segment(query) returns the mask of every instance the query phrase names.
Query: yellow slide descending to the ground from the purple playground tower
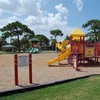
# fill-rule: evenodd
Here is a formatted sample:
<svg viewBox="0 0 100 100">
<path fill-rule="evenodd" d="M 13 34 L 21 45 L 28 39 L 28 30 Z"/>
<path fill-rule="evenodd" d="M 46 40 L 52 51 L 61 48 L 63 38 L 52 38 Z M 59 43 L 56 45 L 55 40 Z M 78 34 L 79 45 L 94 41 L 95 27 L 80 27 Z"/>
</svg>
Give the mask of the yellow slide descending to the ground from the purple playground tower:
<svg viewBox="0 0 100 100">
<path fill-rule="evenodd" d="M 66 58 L 67 56 L 70 55 L 70 51 L 71 51 L 71 47 L 70 47 L 70 45 L 68 45 L 68 46 L 66 47 L 66 52 L 63 53 L 63 54 L 61 54 L 61 55 L 59 55 L 58 57 L 56 57 L 56 58 L 53 59 L 53 60 L 49 60 L 49 61 L 48 61 L 48 65 L 51 65 L 51 64 L 53 64 L 53 63 L 55 63 L 55 62 L 57 62 L 57 61 L 63 60 L 64 58 Z"/>
</svg>

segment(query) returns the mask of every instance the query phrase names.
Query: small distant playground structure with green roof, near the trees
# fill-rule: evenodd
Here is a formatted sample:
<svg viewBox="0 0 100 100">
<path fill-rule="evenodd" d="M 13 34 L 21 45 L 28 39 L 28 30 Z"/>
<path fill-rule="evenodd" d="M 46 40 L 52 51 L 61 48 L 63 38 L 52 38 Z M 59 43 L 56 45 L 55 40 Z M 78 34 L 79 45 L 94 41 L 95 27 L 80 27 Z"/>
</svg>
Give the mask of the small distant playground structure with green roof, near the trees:
<svg viewBox="0 0 100 100">
<path fill-rule="evenodd" d="M 35 54 L 39 52 L 39 40 L 37 38 L 33 38 L 30 40 L 32 42 L 32 47 L 29 50 L 30 54 Z"/>
</svg>

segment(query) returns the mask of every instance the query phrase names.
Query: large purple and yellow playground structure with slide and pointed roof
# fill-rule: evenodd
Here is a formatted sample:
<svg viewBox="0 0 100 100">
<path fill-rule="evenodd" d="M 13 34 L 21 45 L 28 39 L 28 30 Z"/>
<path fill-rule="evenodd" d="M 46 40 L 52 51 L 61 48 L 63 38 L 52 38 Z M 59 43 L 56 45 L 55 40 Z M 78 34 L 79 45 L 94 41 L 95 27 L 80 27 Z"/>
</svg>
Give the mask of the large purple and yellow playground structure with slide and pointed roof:
<svg viewBox="0 0 100 100">
<path fill-rule="evenodd" d="M 69 35 L 69 40 L 63 40 L 61 43 L 57 43 L 57 48 L 61 53 L 53 60 L 48 61 L 48 65 L 52 65 L 55 62 L 60 62 L 66 57 L 68 63 L 76 70 L 79 70 L 79 66 L 88 63 L 97 64 L 100 57 L 100 42 L 90 43 L 85 42 L 85 34 L 78 28 L 74 29 Z"/>
</svg>

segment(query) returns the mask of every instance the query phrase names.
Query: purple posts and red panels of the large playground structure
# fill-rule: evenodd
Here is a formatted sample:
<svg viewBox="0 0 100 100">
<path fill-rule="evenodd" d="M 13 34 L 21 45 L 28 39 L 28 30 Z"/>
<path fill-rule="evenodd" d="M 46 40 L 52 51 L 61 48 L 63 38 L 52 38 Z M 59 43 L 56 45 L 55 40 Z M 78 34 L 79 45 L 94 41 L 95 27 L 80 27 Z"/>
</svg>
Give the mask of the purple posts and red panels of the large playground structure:
<svg viewBox="0 0 100 100">
<path fill-rule="evenodd" d="M 88 63 L 97 63 L 98 57 L 100 56 L 100 42 L 85 42 L 85 38 L 80 37 L 80 40 L 73 40 L 73 37 L 70 36 L 69 38 L 69 44 L 71 45 L 71 54 L 68 57 L 68 63 L 71 64 L 71 66 L 74 65 L 74 57 L 76 56 L 76 70 L 78 70 L 78 65 L 85 64 L 85 61 L 88 61 Z M 81 47 L 80 47 L 81 46 Z M 86 57 L 85 56 L 85 47 L 94 47 L 94 54 L 93 56 Z M 81 49 L 80 49 L 81 48 Z"/>
</svg>

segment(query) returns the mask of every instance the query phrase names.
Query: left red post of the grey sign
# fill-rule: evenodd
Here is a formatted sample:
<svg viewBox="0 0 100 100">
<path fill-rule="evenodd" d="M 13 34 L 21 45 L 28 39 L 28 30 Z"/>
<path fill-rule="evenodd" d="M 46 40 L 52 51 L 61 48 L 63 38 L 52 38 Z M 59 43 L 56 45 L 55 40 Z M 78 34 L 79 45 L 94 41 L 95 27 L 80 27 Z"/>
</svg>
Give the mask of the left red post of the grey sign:
<svg viewBox="0 0 100 100">
<path fill-rule="evenodd" d="M 14 74 L 15 74 L 15 85 L 18 85 L 18 59 L 17 54 L 14 55 Z"/>
</svg>

